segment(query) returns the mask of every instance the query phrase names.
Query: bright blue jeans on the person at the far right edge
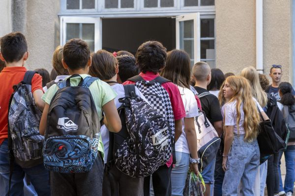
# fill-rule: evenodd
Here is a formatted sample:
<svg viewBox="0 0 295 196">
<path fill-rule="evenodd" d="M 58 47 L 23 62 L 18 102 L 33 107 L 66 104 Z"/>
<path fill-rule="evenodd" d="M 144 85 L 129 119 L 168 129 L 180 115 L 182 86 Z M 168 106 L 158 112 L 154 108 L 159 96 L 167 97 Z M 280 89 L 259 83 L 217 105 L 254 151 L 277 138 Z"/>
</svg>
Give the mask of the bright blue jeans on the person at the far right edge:
<svg viewBox="0 0 295 196">
<path fill-rule="evenodd" d="M 294 180 L 295 180 L 295 145 L 288 146 L 285 154 L 286 161 L 286 178 L 285 178 L 285 187 L 283 188 L 283 182 L 281 177 L 281 161 L 279 162 L 279 174 L 280 174 L 280 191 L 285 191 L 285 193 L 292 192 L 294 189 Z"/>
</svg>

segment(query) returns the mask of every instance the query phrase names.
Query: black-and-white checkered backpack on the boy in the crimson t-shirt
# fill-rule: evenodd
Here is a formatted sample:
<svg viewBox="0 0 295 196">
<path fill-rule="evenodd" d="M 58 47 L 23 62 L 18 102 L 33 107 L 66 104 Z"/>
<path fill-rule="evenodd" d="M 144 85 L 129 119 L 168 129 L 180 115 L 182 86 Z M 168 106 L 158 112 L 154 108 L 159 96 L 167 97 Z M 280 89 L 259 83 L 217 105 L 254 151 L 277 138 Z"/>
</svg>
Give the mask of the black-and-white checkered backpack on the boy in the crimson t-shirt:
<svg viewBox="0 0 295 196">
<path fill-rule="evenodd" d="M 162 84 L 170 82 L 170 80 L 158 76 L 153 80 L 145 80 L 140 75 L 136 75 L 128 79 L 129 81 L 135 82 L 135 86 L 145 96 L 148 102 L 166 118 L 169 128 L 171 130 L 171 145 L 168 146 L 169 151 L 174 151 L 174 138 L 175 138 L 175 122 L 174 114 L 168 92 L 164 89 Z M 167 154 L 169 160 L 170 154 Z M 168 157 L 169 156 L 169 157 Z M 175 158 L 175 156 L 174 156 Z M 174 159 L 175 162 L 175 159 Z"/>
</svg>

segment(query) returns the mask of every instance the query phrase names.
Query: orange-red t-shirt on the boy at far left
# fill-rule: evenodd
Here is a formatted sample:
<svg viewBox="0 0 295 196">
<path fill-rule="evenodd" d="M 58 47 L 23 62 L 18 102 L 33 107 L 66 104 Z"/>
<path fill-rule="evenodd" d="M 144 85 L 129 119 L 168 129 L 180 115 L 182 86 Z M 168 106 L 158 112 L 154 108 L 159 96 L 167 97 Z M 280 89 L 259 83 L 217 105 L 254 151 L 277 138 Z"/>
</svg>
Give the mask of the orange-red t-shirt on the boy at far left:
<svg viewBox="0 0 295 196">
<path fill-rule="evenodd" d="M 8 104 L 13 85 L 24 79 L 27 69 L 25 67 L 5 67 L 0 73 L 0 145 L 8 138 Z M 42 89 L 42 76 L 34 74 L 32 78 L 32 93 Z"/>
</svg>

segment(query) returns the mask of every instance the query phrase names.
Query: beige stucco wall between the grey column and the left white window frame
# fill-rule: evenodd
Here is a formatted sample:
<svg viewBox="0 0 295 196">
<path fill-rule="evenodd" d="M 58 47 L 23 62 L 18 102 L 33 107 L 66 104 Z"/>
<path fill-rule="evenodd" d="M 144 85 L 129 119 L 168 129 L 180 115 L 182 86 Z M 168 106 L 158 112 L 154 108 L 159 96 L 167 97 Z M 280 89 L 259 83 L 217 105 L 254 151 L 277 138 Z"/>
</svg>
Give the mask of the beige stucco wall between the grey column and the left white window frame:
<svg viewBox="0 0 295 196">
<path fill-rule="evenodd" d="M 59 0 L 28 0 L 25 33 L 30 56 L 30 70 L 46 68 L 51 71 L 52 54 L 59 38 Z"/>
</svg>

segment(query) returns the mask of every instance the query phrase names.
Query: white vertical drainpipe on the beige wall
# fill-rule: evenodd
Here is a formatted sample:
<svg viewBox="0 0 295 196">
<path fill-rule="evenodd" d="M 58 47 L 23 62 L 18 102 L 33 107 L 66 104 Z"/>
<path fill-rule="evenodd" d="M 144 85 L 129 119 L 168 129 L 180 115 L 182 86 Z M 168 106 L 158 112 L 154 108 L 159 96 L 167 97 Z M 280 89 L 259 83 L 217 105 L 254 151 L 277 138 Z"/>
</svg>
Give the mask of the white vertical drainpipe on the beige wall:
<svg viewBox="0 0 295 196">
<path fill-rule="evenodd" d="M 263 73 L 263 0 L 256 0 L 256 70 Z"/>
</svg>

